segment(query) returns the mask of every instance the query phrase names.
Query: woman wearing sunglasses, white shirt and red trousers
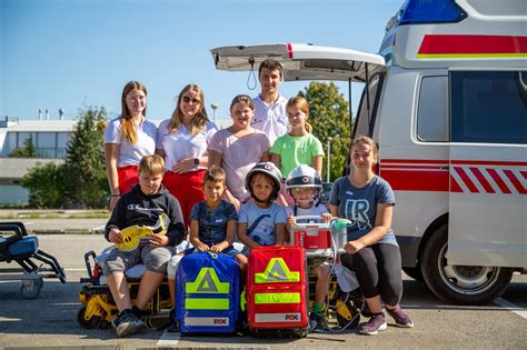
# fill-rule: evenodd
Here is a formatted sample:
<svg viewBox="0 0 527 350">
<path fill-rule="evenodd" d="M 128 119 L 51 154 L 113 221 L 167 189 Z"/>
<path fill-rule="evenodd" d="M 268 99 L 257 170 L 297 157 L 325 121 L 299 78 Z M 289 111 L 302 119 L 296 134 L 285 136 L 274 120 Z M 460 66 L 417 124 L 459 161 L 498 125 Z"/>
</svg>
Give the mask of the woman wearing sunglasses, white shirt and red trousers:
<svg viewBox="0 0 527 350">
<path fill-rule="evenodd" d="M 205 110 L 203 91 L 196 84 L 181 90 L 172 117 L 159 124 L 156 152 L 165 158 L 163 184 L 178 199 L 186 228 L 193 204 L 205 200 L 207 146 L 216 131 Z"/>
</svg>

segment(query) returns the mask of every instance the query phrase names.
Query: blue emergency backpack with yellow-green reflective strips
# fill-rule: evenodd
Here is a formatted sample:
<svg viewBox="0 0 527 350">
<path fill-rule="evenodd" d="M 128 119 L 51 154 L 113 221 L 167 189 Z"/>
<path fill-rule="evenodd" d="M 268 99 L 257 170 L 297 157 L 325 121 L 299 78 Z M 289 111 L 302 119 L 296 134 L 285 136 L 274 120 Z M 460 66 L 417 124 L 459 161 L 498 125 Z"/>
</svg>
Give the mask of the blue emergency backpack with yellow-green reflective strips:
<svg viewBox="0 0 527 350">
<path fill-rule="evenodd" d="M 210 252 L 185 256 L 176 272 L 176 321 L 181 333 L 232 333 L 240 304 L 236 259 Z"/>
</svg>

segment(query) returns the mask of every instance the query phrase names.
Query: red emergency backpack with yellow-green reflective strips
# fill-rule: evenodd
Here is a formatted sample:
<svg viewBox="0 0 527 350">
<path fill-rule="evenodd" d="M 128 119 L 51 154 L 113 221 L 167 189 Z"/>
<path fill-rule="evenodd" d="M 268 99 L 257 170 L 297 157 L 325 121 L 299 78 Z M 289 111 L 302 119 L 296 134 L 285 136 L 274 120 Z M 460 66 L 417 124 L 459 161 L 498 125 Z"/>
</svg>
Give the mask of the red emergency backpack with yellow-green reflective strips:
<svg viewBox="0 0 527 350">
<path fill-rule="evenodd" d="M 299 247 L 257 247 L 247 269 L 247 316 L 255 336 L 306 337 L 306 253 Z"/>
</svg>

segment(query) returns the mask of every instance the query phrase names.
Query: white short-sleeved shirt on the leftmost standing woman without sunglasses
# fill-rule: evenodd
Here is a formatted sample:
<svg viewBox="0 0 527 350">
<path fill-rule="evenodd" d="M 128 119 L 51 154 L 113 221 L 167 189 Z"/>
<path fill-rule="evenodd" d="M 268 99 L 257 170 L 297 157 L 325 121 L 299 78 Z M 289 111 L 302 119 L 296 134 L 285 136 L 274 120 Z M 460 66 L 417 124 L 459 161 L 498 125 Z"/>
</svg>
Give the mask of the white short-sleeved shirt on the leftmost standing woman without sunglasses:
<svg viewBox="0 0 527 350">
<path fill-rule="evenodd" d="M 130 144 L 121 132 L 121 117 L 112 119 L 105 129 L 105 143 L 119 143 L 119 160 L 117 167 L 138 166 L 142 157 L 153 154 L 156 151 L 156 139 L 158 129 L 156 126 L 142 119 L 141 123 L 136 126 L 137 142 Z"/>
</svg>

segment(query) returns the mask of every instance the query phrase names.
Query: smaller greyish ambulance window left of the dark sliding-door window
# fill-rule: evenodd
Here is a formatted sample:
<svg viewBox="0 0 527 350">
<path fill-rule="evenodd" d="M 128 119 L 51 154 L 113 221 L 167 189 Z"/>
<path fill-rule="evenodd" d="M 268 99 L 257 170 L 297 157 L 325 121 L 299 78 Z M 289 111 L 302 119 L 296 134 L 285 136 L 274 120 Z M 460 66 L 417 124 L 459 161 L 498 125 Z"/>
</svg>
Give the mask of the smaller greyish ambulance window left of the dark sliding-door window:
<svg viewBox="0 0 527 350">
<path fill-rule="evenodd" d="M 425 77 L 419 89 L 417 138 L 424 142 L 448 141 L 447 77 Z"/>
</svg>

